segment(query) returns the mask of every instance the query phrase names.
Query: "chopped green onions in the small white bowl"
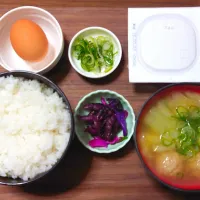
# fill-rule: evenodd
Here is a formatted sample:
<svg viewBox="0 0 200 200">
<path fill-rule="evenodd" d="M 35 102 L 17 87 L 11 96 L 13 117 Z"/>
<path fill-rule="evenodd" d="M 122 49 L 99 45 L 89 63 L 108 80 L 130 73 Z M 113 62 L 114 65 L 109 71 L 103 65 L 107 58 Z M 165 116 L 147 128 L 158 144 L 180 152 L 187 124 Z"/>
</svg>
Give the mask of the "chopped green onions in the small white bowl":
<svg viewBox="0 0 200 200">
<path fill-rule="evenodd" d="M 109 37 L 78 38 L 73 45 L 73 55 L 87 72 L 107 73 L 114 64 L 114 44 Z"/>
</svg>

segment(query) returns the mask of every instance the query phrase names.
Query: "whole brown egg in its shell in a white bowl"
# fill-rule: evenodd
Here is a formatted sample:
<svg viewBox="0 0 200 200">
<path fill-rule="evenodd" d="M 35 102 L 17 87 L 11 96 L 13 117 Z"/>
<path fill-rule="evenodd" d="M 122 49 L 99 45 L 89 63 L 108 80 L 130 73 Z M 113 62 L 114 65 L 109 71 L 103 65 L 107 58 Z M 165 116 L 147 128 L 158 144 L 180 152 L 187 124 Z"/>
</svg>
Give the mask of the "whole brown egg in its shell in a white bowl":
<svg viewBox="0 0 200 200">
<path fill-rule="evenodd" d="M 44 31 L 35 22 L 17 20 L 10 30 L 10 41 L 15 52 L 27 61 L 39 61 L 47 53 L 48 40 Z"/>
</svg>

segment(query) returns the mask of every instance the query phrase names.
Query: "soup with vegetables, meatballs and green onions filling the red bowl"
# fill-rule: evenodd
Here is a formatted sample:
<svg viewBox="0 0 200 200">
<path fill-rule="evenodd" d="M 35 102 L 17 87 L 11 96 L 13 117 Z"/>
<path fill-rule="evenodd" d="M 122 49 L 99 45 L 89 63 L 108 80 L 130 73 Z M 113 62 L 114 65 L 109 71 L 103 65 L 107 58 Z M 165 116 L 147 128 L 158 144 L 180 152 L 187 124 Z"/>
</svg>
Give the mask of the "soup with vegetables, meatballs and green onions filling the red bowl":
<svg viewBox="0 0 200 200">
<path fill-rule="evenodd" d="M 200 93 L 172 91 L 140 120 L 137 140 L 150 170 L 170 185 L 200 188 Z"/>
</svg>

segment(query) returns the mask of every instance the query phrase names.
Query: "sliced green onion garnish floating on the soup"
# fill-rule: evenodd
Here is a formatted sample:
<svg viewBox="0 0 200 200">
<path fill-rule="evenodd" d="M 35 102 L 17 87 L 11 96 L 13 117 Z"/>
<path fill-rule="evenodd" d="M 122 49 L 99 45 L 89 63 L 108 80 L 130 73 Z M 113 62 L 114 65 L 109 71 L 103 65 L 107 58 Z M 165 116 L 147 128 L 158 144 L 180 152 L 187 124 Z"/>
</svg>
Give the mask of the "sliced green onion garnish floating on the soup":
<svg viewBox="0 0 200 200">
<path fill-rule="evenodd" d="M 172 117 L 179 122 L 174 130 L 178 134 L 172 136 L 172 132 L 164 132 L 160 137 L 161 144 L 174 145 L 178 153 L 188 157 L 195 155 L 200 151 L 200 108 L 178 106 Z"/>
</svg>

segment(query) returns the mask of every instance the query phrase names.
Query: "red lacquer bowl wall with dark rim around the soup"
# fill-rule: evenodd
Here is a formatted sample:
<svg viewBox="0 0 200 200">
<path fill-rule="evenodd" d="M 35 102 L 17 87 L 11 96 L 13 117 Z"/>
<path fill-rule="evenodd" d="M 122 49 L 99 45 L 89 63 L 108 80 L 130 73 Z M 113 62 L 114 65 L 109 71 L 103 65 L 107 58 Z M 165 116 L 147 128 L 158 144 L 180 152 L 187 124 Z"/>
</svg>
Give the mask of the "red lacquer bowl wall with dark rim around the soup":
<svg viewBox="0 0 200 200">
<path fill-rule="evenodd" d="M 143 126 L 143 119 L 146 116 L 146 114 L 150 111 L 151 107 L 155 105 L 157 102 L 159 102 L 161 99 L 169 96 L 170 94 L 174 92 L 192 92 L 197 93 L 200 95 L 200 84 L 191 84 L 191 83 L 180 83 L 180 84 L 171 84 L 166 87 L 161 88 L 157 92 L 155 92 L 143 105 L 139 116 L 136 121 L 135 126 L 135 134 L 134 134 L 134 140 L 136 145 L 137 153 L 147 170 L 147 172 L 155 178 L 158 182 L 163 184 L 164 186 L 167 186 L 170 189 L 178 190 L 178 191 L 184 191 L 184 192 L 200 192 L 200 176 L 199 178 L 195 180 L 188 180 L 183 181 L 181 180 L 174 180 L 170 178 L 165 178 L 161 175 L 158 175 L 157 171 L 154 167 L 152 167 L 152 164 L 149 163 L 149 161 L 146 159 L 147 157 L 144 155 L 144 151 L 142 151 L 142 145 L 140 144 L 139 137 L 141 136 L 141 128 Z M 200 101 L 200 98 L 199 98 Z M 199 104 L 200 105 L 200 104 Z M 200 125 L 199 125 L 200 126 Z M 176 150 L 175 150 L 176 151 Z M 186 162 L 186 161 L 185 161 Z M 200 160 L 199 160 L 200 162 Z M 200 164 L 200 163 L 199 163 Z M 200 174 L 200 167 L 199 167 L 199 174 Z"/>
</svg>

